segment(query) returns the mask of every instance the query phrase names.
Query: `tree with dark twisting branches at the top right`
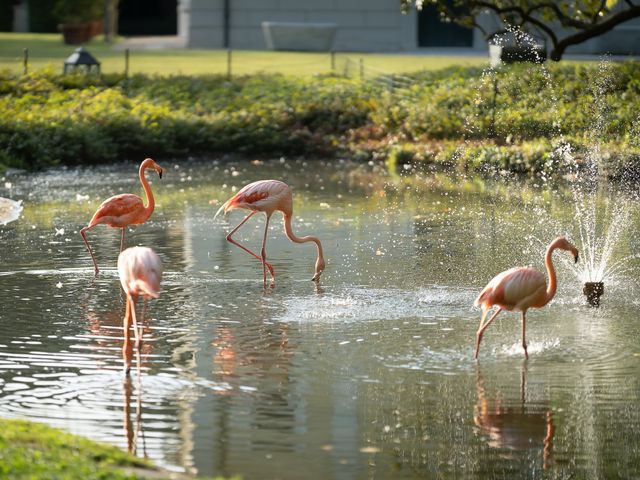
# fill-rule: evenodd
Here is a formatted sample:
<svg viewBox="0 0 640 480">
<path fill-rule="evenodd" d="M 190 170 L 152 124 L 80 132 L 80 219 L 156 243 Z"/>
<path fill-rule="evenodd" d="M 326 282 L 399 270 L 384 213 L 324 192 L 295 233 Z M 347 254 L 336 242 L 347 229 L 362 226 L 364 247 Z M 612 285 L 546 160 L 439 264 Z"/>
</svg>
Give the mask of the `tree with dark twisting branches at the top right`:
<svg viewBox="0 0 640 480">
<path fill-rule="evenodd" d="M 560 60 L 567 47 L 602 35 L 627 20 L 640 17 L 638 0 L 400 0 L 403 12 L 412 6 L 434 5 L 444 21 L 477 27 L 489 41 L 511 31 L 537 33 L 552 45 L 549 57 Z M 502 27 L 488 31 L 477 19 L 492 12 Z M 557 27 L 564 27 L 566 34 Z"/>
</svg>

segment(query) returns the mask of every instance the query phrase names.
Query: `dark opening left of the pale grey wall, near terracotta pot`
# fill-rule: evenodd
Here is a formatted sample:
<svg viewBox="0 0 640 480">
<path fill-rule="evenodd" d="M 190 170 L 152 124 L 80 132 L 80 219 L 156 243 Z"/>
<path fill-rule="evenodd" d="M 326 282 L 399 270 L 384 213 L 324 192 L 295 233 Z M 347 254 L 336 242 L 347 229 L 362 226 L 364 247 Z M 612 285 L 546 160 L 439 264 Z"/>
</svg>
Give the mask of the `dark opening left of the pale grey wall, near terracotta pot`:
<svg viewBox="0 0 640 480">
<path fill-rule="evenodd" d="M 176 35 L 178 0 L 120 0 L 120 35 Z"/>
</svg>

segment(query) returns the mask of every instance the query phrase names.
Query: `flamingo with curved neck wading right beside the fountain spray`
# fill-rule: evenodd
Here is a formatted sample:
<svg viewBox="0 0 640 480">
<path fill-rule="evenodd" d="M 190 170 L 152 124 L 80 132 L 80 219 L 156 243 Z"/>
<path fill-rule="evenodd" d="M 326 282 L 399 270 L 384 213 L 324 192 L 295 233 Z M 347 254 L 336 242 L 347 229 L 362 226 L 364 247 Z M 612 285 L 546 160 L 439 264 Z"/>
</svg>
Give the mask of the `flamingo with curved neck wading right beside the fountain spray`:
<svg viewBox="0 0 640 480">
<path fill-rule="evenodd" d="M 517 267 L 496 275 L 480 292 L 480 295 L 473 303 L 476 307 L 482 306 L 482 317 L 476 333 L 474 358 L 478 358 L 484 331 L 502 310 L 520 310 L 522 312 L 522 348 L 524 349 L 525 357 L 529 358 L 527 343 L 525 342 L 525 316 L 529 308 L 544 307 L 556 294 L 556 272 L 553 268 L 551 255 L 557 248 L 571 252 L 575 261 L 578 261 L 578 249 L 569 243 L 566 238 L 558 237 L 551 242 L 547 247 L 544 261 L 549 275 L 549 285 L 547 285 L 544 275 L 538 270 Z M 498 307 L 498 310 L 485 323 L 484 320 L 487 313 L 494 305 Z"/>
</svg>

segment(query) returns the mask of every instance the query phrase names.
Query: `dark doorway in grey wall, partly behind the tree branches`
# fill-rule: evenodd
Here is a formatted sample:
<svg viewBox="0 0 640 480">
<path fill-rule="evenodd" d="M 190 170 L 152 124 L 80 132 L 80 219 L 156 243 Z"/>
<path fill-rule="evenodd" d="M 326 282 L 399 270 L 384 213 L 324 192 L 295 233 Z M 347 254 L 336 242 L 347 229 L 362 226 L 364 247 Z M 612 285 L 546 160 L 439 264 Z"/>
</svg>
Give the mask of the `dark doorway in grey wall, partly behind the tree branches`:
<svg viewBox="0 0 640 480">
<path fill-rule="evenodd" d="M 453 1 L 447 2 L 453 4 Z M 425 5 L 418 12 L 419 47 L 472 47 L 473 30 L 457 23 L 440 20 L 440 14 L 433 5 Z"/>
</svg>

